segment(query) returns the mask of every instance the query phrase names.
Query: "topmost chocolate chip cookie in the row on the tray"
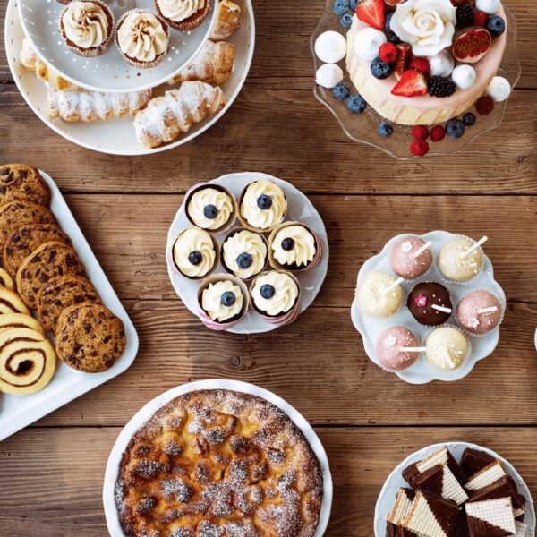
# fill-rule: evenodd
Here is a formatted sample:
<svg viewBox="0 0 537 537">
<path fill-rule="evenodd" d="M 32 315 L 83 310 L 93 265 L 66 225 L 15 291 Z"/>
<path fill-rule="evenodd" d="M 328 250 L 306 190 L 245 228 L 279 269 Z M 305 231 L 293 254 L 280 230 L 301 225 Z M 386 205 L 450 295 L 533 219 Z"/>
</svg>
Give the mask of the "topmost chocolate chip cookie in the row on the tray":
<svg viewBox="0 0 537 537">
<path fill-rule="evenodd" d="M 0 167 L 0 206 L 12 201 L 50 203 L 50 189 L 38 172 L 27 164 L 4 164 Z"/>
</svg>

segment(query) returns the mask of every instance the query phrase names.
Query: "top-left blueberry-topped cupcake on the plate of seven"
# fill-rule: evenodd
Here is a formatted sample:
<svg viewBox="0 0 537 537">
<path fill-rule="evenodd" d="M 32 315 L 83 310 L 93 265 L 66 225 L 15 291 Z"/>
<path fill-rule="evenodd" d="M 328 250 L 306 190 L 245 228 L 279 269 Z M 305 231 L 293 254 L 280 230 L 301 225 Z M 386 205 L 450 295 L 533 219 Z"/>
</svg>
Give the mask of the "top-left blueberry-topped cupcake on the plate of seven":
<svg viewBox="0 0 537 537">
<path fill-rule="evenodd" d="M 202 183 L 186 194 L 185 212 L 194 226 L 220 233 L 234 224 L 236 201 L 234 195 L 219 184 Z"/>
</svg>

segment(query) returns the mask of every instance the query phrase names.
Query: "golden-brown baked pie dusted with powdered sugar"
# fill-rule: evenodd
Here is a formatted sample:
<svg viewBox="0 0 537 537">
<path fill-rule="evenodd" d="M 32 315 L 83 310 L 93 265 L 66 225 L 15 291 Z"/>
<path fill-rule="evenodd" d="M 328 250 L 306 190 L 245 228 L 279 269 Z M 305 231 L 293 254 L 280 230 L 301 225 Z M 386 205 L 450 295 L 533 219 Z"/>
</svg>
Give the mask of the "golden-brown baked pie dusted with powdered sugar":
<svg viewBox="0 0 537 537">
<path fill-rule="evenodd" d="M 115 482 L 127 537 L 311 537 L 322 473 L 294 422 L 257 396 L 194 391 L 132 437 Z"/>
</svg>

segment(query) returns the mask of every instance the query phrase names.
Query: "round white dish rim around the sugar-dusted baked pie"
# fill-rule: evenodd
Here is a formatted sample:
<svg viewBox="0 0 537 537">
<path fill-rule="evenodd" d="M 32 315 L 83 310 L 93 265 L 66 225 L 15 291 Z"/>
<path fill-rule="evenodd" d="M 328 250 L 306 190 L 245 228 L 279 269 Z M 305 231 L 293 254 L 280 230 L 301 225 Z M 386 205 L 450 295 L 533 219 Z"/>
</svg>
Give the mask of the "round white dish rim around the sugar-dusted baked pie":
<svg viewBox="0 0 537 537">
<path fill-rule="evenodd" d="M 169 401 L 177 396 L 182 396 L 189 392 L 200 389 L 229 389 L 244 394 L 251 394 L 253 396 L 259 396 L 266 399 L 272 405 L 276 405 L 283 410 L 294 424 L 303 431 L 303 435 L 313 450 L 313 453 L 320 462 L 320 468 L 323 476 L 323 494 L 322 505 L 320 507 L 320 519 L 319 525 L 315 532 L 315 537 L 322 537 L 328 526 L 328 519 L 330 517 L 330 510 L 332 508 L 332 497 L 334 494 L 332 485 L 332 475 L 330 474 L 330 467 L 328 465 L 328 456 L 324 447 L 322 446 L 319 437 L 312 429 L 310 423 L 299 413 L 293 406 L 289 405 L 284 399 L 268 391 L 268 389 L 260 388 L 247 382 L 240 382 L 238 380 L 199 380 L 197 382 L 190 382 L 189 384 L 183 384 L 176 388 L 172 388 L 161 396 L 156 397 L 152 401 L 149 401 L 147 405 L 144 405 L 141 410 L 132 416 L 130 422 L 124 426 L 124 430 L 121 431 L 115 445 L 112 448 L 112 452 L 108 457 L 107 469 L 105 472 L 105 484 L 103 488 L 103 503 L 105 505 L 105 515 L 107 516 L 108 531 L 112 537 L 123 536 L 121 524 L 117 516 L 117 509 L 115 508 L 114 501 L 114 486 L 117 479 L 117 471 L 121 462 L 121 457 L 125 448 L 134 436 L 134 434 L 141 428 L 141 426 L 149 420 L 149 418 L 158 411 L 158 409 L 166 405 Z"/>
</svg>

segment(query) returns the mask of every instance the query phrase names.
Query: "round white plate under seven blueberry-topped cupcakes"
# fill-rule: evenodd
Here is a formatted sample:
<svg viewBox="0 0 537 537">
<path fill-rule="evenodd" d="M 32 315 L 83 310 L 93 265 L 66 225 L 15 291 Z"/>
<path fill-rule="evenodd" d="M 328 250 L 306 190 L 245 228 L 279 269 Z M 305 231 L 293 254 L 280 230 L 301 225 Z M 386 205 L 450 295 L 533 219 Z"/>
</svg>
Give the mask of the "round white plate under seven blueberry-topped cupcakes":
<svg viewBox="0 0 537 537">
<path fill-rule="evenodd" d="M 236 197 L 238 197 L 248 183 L 251 183 L 257 179 L 268 179 L 269 181 L 274 181 L 274 183 L 279 184 L 284 192 L 286 192 L 286 221 L 295 220 L 297 222 L 302 222 L 305 226 L 308 226 L 311 231 L 313 231 L 315 234 L 318 234 L 320 240 L 322 241 L 323 251 L 322 259 L 320 260 L 319 265 L 317 265 L 315 268 L 311 268 L 311 270 L 307 272 L 294 273 L 294 276 L 298 278 L 301 286 L 302 313 L 315 300 L 315 297 L 317 294 L 319 294 L 320 287 L 327 276 L 329 254 L 327 230 L 323 224 L 320 214 L 317 212 L 317 209 L 313 207 L 313 204 L 310 200 L 308 200 L 307 196 L 295 188 L 291 183 L 287 183 L 283 179 L 278 179 L 272 175 L 260 174 L 259 172 L 243 172 L 240 174 L 222 175 L 217 179 L 209 181 L 209 183 L 221 184 Z M 240 226 L 238 220 L 236 225 Z M 182 204 L 175 215 L 172 226 L 170 226 L 166 251 L 169 251 L 173 247 L 177 235 L 188 226 L 192 226 L 192 224 L 186 217 L 184 204 Z M 217 234 L 217 239 L 220 244 L 225 236 L 226 233 Z M 225 270 L 221 266 L 219 266 L 214 272 L 214 274 L 222 273 L 225 273 Z M 200 282 L 196 282 L 187 277 L 178 275 L 169 263 L 168 275 L 172 280 L 175 293 L 179 295 L 184 305 L 197 316 L 200 311 L 200 307 L 198 305 L 198 288 L 200 286 Z M 240 320 L 236 325 L 234 325 L 234 327 L 229 328 L 227 331 L 233 332 L 234 334 L 258 334 L 260 332 L 268 332 L 276 328 L 278 328 L 278 325 L 274 325 L 266 320 L 263 320 L 259 313 L 250 308 L 246 315 L 244 315 L 243 320 Z"/>
</svg>

